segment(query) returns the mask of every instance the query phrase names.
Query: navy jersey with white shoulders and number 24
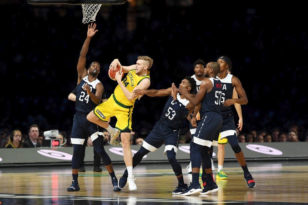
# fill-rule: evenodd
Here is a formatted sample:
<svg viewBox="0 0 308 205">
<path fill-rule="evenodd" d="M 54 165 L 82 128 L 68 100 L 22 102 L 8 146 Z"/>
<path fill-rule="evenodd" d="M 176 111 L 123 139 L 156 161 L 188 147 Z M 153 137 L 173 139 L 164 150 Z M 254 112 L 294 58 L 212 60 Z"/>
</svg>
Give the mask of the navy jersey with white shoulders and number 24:
<svg viewBox="0 0 308 205">
<path fill-rule="evenodd" d="M 91 97 L 87 94 L 87 91 L 83 90 L 82 88 L 86 83 L 90 86 L 91 92 L 95 94 L 95 87 L 98 83 L 101 82 L 98 79 L 89 82 L 88 76 L 86 76 L 82 79 L 79 85 L 77 85 L 75 108 L 77 113 L 81 115 L 89 114 L 89 112 L 91 112 L 97 106 L 97 104 L 95 104 Z"/>
</svg>

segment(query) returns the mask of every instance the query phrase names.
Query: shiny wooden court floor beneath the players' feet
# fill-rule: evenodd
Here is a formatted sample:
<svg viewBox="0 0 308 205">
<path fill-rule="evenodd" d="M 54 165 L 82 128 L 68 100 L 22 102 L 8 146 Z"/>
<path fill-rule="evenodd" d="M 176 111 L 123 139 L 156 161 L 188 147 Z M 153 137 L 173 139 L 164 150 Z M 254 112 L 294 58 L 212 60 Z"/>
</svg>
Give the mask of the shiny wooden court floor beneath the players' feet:
<svg viewBox="0 0 308 205">
<path fill-rule="evenodd" d="M 216 162 L 217 164 L 217 162 Z M 79 174 L 80 191 L 67 192 L 71 185 L 71 167 L 14 167 L 0 168 L 0 204 L 308 204 L 307 160 L 247 162 L 256 187 L 249 189 L 237 162 L 225 162 L 227 180 L 216 180 L 219 191 L 209 195 L 172 195 L 177 179 L 168 163 L 139 164 L 133 172 L 137 191 L 125 187 L 113 192 L 111 178 L 103 172 L 93 172 L 87 165 Z M 181 163 L 185 183 L 192 176 L 186 171 L 188 163 Z M 124 164 L 115 164 L 119 179 Z M 217 170 L 217 169 L 216 169 Z M 214 175 L 216 175 L 214 171 Z M 200 180 L 201 181 L 201 180 Z M 201 182 L 202 184 L 202 182 Z"/>
</svg>

